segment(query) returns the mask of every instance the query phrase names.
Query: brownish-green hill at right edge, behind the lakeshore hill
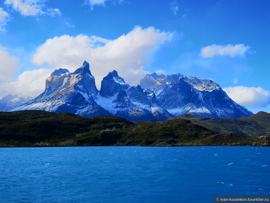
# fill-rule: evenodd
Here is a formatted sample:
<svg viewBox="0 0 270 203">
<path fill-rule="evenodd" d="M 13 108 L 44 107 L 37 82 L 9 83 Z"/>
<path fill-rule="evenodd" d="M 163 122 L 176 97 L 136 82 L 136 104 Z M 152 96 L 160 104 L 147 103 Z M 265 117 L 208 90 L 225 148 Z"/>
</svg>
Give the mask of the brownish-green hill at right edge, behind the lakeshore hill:
<svg viewBox="0 0 270 203">
<path fill-rule="evenodd" d="M 250 117 L 235 118 L 198 118 L 190 114 L 180 115 L 177 118 L 187 119 L 194 124 L 219 133 L 235 133 L 245 137 L 270 135 L 270 113 L 256 113 Z M 171 118 L 173 119 L 173 118 Z"/>
</svg>

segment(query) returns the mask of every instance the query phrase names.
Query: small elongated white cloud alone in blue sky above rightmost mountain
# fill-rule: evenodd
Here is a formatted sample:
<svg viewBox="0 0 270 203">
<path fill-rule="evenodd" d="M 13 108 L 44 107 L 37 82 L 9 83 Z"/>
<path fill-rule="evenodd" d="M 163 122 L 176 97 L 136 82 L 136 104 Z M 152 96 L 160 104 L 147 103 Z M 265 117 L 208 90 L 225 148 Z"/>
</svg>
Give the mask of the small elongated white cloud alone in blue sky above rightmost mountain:
<svg viewBox="0 0 270 203">
<path fill-rule="evenodd" d="M 228 44 L 226 46 L 212 44 L 207 47 L 201 48 L 201 55 L 204 58 L 213 57 L 215 55 L 234 57 L 245 57 L 245 53 L 250 49 L 249 46 L 244 44 Z"/>
</svg>

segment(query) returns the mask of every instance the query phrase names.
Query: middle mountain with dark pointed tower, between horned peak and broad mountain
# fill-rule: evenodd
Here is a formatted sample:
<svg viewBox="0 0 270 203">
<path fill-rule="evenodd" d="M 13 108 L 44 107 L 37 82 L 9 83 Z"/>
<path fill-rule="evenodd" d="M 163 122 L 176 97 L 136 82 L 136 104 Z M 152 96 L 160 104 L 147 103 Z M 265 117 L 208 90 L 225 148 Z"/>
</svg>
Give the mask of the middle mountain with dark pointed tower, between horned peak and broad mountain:
<svg viewBox="0 0 270 203">
<path fill-rule="evenodd" d="M 145 90 L 140 85 L 128 85 L 115 70 L 101 81 L 97 103 L 114 116 L 130 121 L 163 121 L 173 117 L 160 107 L 153 91 Z"/>
</svg>

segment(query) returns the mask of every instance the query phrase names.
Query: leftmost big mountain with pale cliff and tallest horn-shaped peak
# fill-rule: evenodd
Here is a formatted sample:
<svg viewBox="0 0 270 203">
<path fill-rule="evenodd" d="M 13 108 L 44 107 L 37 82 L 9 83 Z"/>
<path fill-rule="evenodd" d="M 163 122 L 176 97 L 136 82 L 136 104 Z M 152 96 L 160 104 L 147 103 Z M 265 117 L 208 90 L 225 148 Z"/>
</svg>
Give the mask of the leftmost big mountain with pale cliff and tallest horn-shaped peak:
<svg viewBox="0 0 270 203">
<path fill-rule="evenodd" d="M 54 71 L 47 78 L 46 89 L 41 95 L 12 111 L 45 110 L 75 113 L 86 117 L 111 115 L 95 102 L 97 93 L 89 63 L 84 61 L 83 66 L 73 73 L 66 69 Z"/>
</svg>

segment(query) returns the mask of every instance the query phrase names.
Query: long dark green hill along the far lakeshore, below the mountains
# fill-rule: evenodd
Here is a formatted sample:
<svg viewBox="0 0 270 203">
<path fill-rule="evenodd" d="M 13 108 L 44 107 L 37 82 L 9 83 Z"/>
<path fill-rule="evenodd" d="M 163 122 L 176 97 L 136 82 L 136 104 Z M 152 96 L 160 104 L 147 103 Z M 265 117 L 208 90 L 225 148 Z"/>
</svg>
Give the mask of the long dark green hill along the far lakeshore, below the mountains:
<svg viewBox="0 0 270 203">
<path fill-rule="evenodd" d="M 262 138 L 220 134 L 187 119 L 137 121 L 85 118 L 41 110 L 0 112 L 0 147 L 262 145 Z"/>
</svg>

